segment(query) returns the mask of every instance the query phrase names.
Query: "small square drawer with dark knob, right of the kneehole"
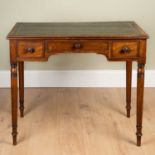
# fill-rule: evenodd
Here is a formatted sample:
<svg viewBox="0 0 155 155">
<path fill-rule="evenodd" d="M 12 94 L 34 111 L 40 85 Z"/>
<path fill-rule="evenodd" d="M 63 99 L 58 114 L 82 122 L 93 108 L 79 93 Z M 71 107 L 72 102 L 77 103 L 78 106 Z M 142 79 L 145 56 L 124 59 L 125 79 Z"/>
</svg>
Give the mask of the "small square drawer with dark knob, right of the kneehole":
<svg viewBox="0 0 155 155">
<path fill-rule="evenodd" d="M 135 58 L 139 54 L 138 41 L 113 41 L 112 57 L 113 58 Z"/>
</svg>

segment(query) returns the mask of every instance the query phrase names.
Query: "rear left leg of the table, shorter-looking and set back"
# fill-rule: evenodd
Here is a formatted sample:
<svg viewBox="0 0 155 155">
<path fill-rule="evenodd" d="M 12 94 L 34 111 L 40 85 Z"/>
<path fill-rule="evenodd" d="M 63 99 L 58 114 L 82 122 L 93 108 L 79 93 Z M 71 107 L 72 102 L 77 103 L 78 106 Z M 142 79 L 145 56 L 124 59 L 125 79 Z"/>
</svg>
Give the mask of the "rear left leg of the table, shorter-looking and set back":
<svg viewBox="0 0 155 155">
<path fill-rule="evenodd" d="M 24 117 L 24 62 L 18 62 L 20 116 Z"/>
</svg>

